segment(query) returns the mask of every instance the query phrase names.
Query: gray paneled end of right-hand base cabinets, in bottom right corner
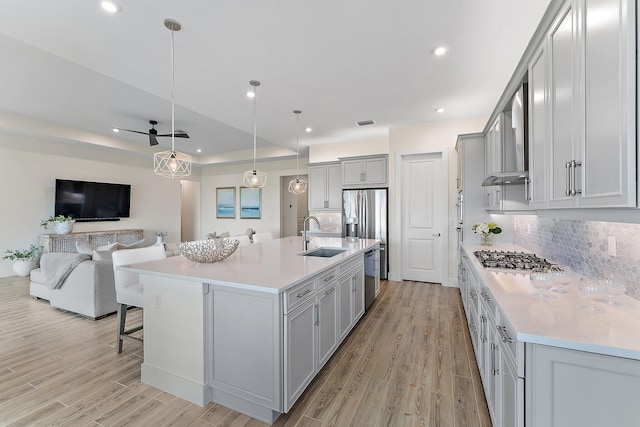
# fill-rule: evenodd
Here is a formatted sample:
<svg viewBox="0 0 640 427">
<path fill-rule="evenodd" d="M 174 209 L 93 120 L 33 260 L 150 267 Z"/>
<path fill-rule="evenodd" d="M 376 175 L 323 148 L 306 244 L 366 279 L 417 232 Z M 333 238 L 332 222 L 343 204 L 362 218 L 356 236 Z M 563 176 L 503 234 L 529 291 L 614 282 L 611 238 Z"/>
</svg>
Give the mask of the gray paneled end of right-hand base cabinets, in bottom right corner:
<svg viewBox="0 0 640 427">
<path fill-rule="evenodd" d="M 527 344 L 526 425 L 637 426 L 640 362 Z"/>
</svg>

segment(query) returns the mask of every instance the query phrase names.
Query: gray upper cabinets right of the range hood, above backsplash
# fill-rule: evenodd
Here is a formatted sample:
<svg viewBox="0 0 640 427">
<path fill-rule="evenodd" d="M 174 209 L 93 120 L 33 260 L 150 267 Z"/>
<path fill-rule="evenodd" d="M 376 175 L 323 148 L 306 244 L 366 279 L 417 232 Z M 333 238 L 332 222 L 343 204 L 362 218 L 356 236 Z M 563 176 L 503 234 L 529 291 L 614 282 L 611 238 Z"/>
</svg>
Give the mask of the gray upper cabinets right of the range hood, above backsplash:
<svg viewBox="0 0 640 427">
<path fill-rule="evenodd" d="M 633 0 L 569 0 L 529 66 L 531 204 L 636 206 Z"/>
</svg>

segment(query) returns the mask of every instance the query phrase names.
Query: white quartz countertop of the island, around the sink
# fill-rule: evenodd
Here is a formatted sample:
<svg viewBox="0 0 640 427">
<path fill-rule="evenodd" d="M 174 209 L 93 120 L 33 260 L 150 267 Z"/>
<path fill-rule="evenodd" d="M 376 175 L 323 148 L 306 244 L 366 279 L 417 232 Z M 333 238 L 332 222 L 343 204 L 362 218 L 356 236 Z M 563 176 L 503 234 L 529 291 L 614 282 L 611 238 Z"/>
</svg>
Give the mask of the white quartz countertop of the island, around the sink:
<svg viewBox="0 0 640 427">
<path fill-rule="evenodd" d="M 371 239 L 314 237 L 307 251 L 318 247 L 346 249 L 331 258 L 321 258 L 299 255 L 303 252 L 302 237 L 285 237 L 240 246 L 229 258 L 212 264 L 175 256 L 120 268 L 141 274 L 279 293 L 376 244 L 378 241 Z"/>
</svg>

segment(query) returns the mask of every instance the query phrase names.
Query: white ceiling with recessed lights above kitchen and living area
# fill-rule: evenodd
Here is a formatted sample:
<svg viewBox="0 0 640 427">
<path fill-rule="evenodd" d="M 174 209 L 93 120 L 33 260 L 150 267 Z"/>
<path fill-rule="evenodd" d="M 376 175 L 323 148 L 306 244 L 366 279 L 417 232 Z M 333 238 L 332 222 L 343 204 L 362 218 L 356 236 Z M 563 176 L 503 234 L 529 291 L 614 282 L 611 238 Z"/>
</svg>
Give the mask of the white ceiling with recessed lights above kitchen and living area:
<svg viewBox="0 0 640 427">
<path fill-rule="evenodd" d="M 157 120 L 200 163 L 291 156 L 294 109 L 308 145 L 382 137 L 391 127 L 488 116 L 549 0 L 0 0 L 0 129 L 147 155 Z M 431 51 L 449 47 L 443 57 Z M 436 113 L 437 107 L 445 108 Z M 357 127 L 372 119 L 376 125 Z M 169 138 L 161 144 L 170 145 Z M 156 147 L 155 150 L 158 150 Z"/>
</svg>

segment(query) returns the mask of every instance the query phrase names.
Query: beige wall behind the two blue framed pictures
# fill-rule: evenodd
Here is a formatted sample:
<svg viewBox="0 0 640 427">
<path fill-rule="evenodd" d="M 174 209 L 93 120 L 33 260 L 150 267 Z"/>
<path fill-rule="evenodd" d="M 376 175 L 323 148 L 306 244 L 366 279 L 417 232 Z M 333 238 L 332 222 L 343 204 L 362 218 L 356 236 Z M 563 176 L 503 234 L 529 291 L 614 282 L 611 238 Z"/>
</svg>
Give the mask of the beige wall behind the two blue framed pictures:
<svg viewBox="0 0 640 427">
<path fill-rule="evenodd" d="M 269 231 L 274 238 L 280 238 L 281 194 L 280 177 L 295 175 L 296 160 L 280 160 L 259 162 L 257 169 L 267 173 L 267 185 L 262 188 L 262 217 L 260 219 L 240 219 L 240 187 L 244 171 L 253 169 L 252 164 L 237 164 L 231 166 L 207 166 L 202 168 L 201 203 L 202 203 L 202 234 L 213 231 L 229 234 L 243 234 L 251 227 L 256 232 Z M 300 170 L 307 170 L 306 159 L 300 159 Z M 216 188 L 236 188 L 236 217 L 216 218 Z M 301 196 L 302 197 L 302 196 Z"/>
</svg>

